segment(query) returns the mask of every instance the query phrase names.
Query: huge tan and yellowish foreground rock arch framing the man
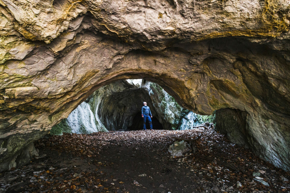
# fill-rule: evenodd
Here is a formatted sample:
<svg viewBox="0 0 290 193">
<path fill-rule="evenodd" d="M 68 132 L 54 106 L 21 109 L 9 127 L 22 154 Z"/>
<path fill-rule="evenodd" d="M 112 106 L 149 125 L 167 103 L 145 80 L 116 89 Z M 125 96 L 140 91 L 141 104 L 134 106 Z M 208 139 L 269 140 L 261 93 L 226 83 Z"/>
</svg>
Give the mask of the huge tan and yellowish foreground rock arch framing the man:
<svg viewBox="0 0 290 193">
<path fill-rule="evenodd" d="M 184 108 L 247 112 L 290 170 L 287 0 L 0 0 L 0 170 L 97 88 L 146 78 Z M 33 148 L 30 148 L 34 151 Z"/>
</svg>

